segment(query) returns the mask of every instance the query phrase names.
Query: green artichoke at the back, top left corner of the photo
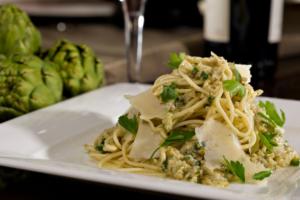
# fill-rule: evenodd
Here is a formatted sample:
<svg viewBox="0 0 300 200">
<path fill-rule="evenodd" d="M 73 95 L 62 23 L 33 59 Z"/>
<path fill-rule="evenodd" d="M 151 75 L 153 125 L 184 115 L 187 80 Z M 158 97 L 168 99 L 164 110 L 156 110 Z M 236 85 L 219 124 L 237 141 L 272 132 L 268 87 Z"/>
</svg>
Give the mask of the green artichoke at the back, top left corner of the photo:
<svg viewBox="0 0 300 200">
<path fill-rule="evenodd" d="M 28 15 L 13 4 L 0 6 L 0 54 L 34 54 L 41 34 Z"/>
</svg>

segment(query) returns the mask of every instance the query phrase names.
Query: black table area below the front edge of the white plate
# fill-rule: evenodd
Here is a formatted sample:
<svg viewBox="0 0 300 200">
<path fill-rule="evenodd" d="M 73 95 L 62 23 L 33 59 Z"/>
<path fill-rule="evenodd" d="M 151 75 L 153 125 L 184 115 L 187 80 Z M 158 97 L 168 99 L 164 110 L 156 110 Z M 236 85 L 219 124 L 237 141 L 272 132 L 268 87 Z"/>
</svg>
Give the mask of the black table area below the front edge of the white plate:
<svg viewBox="0 0 300 200">
<path fill-rule="evenodd" d="M 77 179 L 26 172 L 27 178 L 17 183 L 10 183 L 0 190 L 1 200 L 53 200 L 53 199 L 117 199 L 130 198 L 143 200 L 193 199 L 145 190 L 129 189 L 113 185 L 82 181 Z"/>
</svg>

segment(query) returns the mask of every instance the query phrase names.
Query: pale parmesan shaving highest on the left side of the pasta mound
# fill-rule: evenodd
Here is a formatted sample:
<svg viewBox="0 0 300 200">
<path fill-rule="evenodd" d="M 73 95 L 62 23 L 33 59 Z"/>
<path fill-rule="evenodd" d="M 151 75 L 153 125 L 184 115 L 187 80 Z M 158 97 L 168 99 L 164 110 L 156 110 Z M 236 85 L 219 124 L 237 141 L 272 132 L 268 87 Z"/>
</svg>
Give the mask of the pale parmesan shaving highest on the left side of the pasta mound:
<svg viewBox="0 0 300 200">
<path fill-rule="evenodd" d="M 127 96 L 127 99 L 130 104 L 141 113 L 141 119 L 163 119 L 167 113 L 166 106 L 161 104 L 152 94 L 151 89 L 136 96 Z"/>
</svg>

